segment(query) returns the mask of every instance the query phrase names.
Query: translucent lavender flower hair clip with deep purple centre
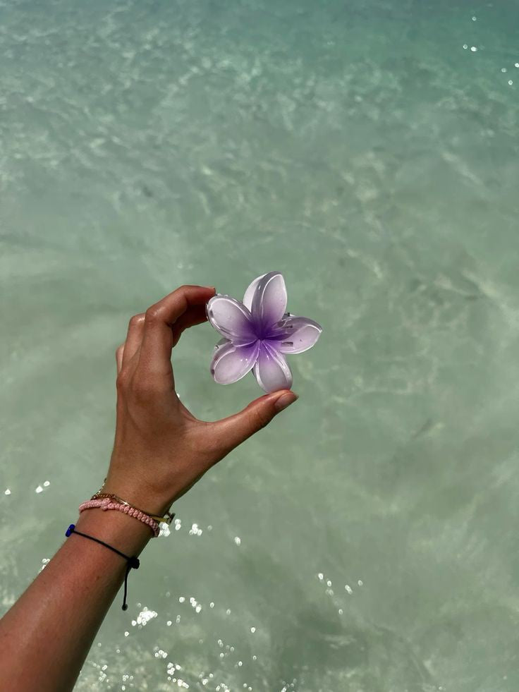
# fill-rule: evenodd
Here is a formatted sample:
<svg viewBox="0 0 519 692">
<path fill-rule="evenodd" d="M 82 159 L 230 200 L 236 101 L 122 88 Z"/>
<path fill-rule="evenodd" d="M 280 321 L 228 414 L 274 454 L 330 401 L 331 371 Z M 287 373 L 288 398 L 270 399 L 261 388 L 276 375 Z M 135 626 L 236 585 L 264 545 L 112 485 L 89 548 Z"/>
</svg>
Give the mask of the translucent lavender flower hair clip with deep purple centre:
<svg viewBox="0 0 519 692">
<path fill-rule="evenodd" d="M 264 391 L 290 389 L 292 372 L 285 354 L 307 351 L 322 332 L 317 322 L 286 312 L 285 280 L 279 272 L 252 281 L 243 303 L 217 293 L 206 311 L 224 337 L 214 347 L 211 363 L 219 384 L 238 382 L 252 370 Z"/>
</svg>

